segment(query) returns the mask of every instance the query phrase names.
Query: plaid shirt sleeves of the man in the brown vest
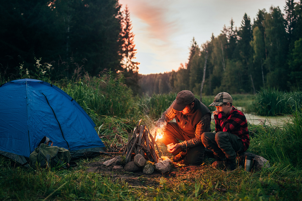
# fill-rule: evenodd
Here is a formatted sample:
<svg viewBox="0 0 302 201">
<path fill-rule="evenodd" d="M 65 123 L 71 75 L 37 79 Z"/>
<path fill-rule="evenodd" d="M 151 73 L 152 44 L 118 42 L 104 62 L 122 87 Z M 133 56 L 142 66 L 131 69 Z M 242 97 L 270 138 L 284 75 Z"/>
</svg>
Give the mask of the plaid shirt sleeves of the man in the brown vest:
<svg viewBox="0 0 302 201">
<path fill-rule="evenodd" d="M 169 122 L 175 118 L 177 113 L 181 113 L 172 108 L 174 102 L 164 113 L 162 113 L 161 118 L 157 121 L 157 125 L 160 123 L 163 123 L 163 122 Z M 194 108 L 193 108 L 193 110 L 194 110 Z M 204 116 L 202 116 L 195 128 L 195 138 L 192 138 L 191 140 L 183 141 L 183 142 L 179 143 L 181 149 L 184 150 L 184 149 L 202 144 L 201 134 L 204 132 L 210 131 L 210 122 L 211 122 L 211 113 L 207 113 Z"/>
</svg>

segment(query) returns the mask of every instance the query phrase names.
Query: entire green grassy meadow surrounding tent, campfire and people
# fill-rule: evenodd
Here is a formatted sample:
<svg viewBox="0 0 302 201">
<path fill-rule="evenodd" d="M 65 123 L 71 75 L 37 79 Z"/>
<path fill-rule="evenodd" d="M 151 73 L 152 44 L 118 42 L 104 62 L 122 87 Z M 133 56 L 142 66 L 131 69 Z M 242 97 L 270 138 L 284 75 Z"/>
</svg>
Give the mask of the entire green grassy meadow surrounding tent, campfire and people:
<svg viewBox="0 0 302 201">
<path fill-rule="evenodd" d="M 127 143 L 140 119 L 154 126 L 176 97 L 176 93 L 134 97 L 123 76 L 111 73 L 99 78 L 42 79 L 73 97 L 97 125 L 102 141 L 115 149 Z M 290 116 L 280 125 L 249 125 L 248 151 L 271 165 L 262 171 L 225 173 L 211 168 L 213 159 L 205 158 L 191 171 L 175 166 L 165 175 L 89 172 L 89 164 L 110 159 L 105 154 L 76 160 L 77 166 L 69 169 L 28 169 L 0 156 L 0 200 L 302 200 L 301 97 L 301 92 L 276 89 L 233 95 L 234 105 L 245 112 Z M 209 105 L 213 99 L 204 96 L 203 102 Z"/>
</svg>

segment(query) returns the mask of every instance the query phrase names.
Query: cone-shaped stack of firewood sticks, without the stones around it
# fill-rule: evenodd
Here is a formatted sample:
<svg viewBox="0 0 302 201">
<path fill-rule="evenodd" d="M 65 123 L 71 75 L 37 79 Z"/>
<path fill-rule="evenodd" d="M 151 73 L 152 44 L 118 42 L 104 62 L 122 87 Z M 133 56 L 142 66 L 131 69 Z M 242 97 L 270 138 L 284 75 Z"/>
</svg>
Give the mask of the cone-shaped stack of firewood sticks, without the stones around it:
<svg viewBox="0 0 302 201">
<path fill-rule="evenodd" d="M 149 127 L 146 125 L 140 125 L 140 122 L 141 120 L 137 124 L 136 128 L 134 128 L 131 138 L 131 133 L 129 134 L 128 143 L 125 145 L 122 155 L 126 156 L 126 163 L 130 162 L 137 154 L 141 154 L 146 160 L 157 163 L 161 154 L 155 141 L 156 134 L 153 137 L 150 133 Z"/>
</svg>

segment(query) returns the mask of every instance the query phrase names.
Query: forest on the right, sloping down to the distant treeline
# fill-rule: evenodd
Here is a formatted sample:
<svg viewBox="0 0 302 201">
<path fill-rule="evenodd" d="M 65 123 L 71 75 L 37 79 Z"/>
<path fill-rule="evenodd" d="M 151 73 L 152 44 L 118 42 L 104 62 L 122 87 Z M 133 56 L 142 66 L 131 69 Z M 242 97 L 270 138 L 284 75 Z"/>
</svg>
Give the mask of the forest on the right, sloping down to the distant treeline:
<svg viewBox="0 0 302 201">
<path fill-rule="evenodd" d="M 253 23 L 244 14 L 239 28 L 231 19 L 219 36 L 200 46 L 193 37 L 187 63 L 177 71 L 141 75 L 140 86 L 149 95 L 184 89 L 198 95 L 203 78 L 205 95 L 301 89 L 302 1 L 286 1 L 283 11 L 259 10 Z"/>
</svg>

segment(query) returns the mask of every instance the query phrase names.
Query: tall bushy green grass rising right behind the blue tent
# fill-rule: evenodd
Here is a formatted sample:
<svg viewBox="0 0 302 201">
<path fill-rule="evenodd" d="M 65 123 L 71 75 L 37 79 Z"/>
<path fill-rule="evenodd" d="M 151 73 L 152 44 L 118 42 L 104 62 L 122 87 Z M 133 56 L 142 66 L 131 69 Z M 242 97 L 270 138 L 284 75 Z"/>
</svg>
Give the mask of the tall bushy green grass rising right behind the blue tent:
<svg viewBox="0 0 302 201">
<path fill-rule="evenodd" d="M 133 114 L 132 91 L 123 83 L 123 77 L 105 74 L 69 82 L 62 90 L 75 99 L 86 112 L 97 115 L 129 117 Z"/>
</svg>

